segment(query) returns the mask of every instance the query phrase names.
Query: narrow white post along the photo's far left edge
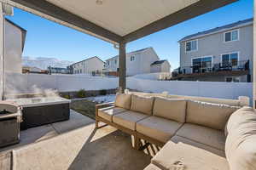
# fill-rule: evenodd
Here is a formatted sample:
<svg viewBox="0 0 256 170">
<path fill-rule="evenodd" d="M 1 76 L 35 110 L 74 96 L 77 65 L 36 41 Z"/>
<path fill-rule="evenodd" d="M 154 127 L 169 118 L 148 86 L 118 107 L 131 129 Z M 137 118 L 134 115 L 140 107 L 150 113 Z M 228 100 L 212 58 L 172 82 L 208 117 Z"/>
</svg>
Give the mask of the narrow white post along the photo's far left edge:
<svg viewBox="0 0 256 170">
<path fill-rule="evenodd" d="M 3 45 L 4 45 L 4 39 L 3 39 L 3 5 L 0 3 L 0 100 L 3 99 L 3 82 L 4 82 L 4 73 L 3 73 Z"/>
</svg>

